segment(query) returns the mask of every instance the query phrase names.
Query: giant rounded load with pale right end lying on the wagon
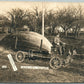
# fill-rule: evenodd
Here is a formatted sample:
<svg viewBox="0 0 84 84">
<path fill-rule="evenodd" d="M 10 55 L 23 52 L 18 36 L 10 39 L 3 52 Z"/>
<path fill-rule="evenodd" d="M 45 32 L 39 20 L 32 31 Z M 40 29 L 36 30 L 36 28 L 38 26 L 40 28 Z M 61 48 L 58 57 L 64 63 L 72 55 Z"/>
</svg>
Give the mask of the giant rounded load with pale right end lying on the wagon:
<svg viewBox="0 0 84 84">
<path fill-rule="evenodd" d="M 6 36 L 2 42 L 6 42 L 6 45 L 11 45 L 14 47 L 15 45 L 15 38 L 17 37 L 17 49 L 19 50 L 42 50 L 47 51 L 48 53 L 51 52 L 52 44 L 49 40 L 41 34 L 36 32 L 20 32 L 18 34 L 10 34 Z"/>
</svg>

